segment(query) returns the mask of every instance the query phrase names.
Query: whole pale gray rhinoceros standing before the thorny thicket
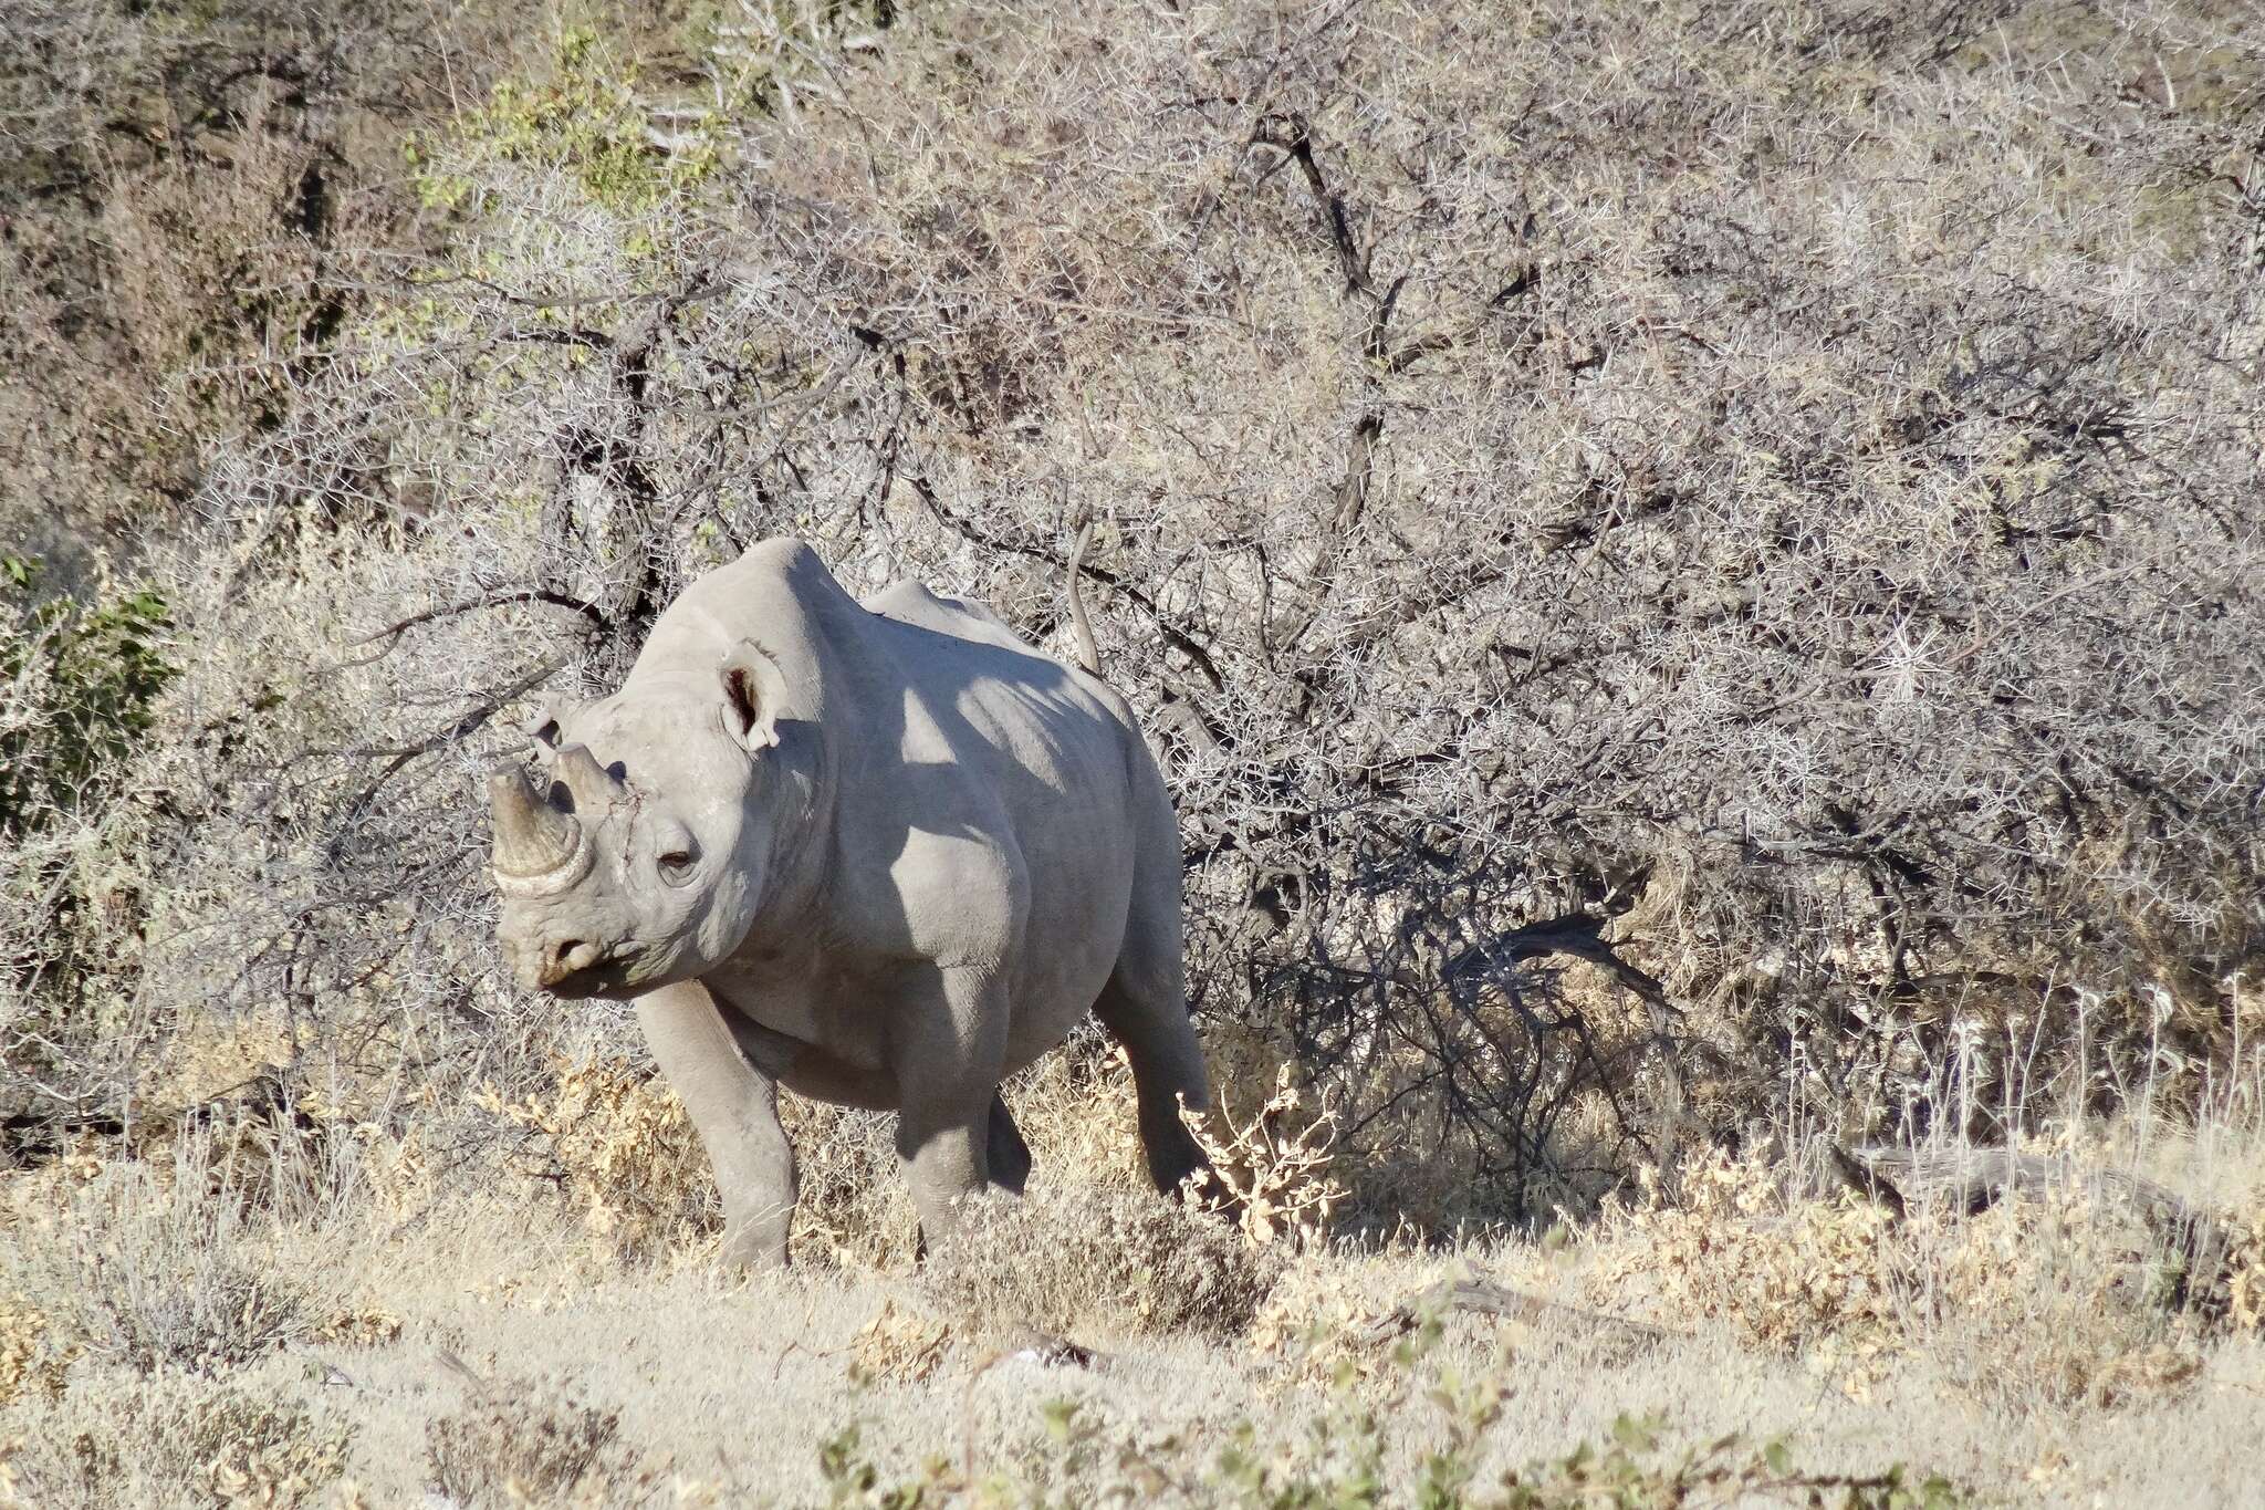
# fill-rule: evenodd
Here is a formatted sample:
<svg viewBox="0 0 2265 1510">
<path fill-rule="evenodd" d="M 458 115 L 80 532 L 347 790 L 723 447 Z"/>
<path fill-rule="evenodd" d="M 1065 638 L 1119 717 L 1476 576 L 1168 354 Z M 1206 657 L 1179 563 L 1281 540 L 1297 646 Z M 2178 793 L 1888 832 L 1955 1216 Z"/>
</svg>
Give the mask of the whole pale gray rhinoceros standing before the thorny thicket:
<svg viewBox="0 0 2265 1510">
<path fill-rule="evenodd" d="M 489 779 L 528 989 L 634 1001 L 716 1170 L 729 1263 L 784 1263 L 777 1087 L 897 1112 L 922 1236 L 1022 1191 L 1001 1078 L 1087 1014 L 1132 1066 L 1148 1175 L 1205 1168 L 1180 838 L 1126 702 L 915 582 L 854 600 L 802 541 L 693 582 L 621 690 Z"/>
</svg>

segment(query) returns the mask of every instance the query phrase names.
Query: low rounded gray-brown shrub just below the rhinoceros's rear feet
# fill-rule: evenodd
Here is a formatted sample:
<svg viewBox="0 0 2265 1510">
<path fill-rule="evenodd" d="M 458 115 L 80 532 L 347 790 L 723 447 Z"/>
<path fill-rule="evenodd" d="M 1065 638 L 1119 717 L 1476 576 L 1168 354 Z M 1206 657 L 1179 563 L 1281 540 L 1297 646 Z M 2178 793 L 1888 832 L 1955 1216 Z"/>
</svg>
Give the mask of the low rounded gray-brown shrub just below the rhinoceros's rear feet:
<svg viewBox="0 0 2265 1510">
<path fill-rule="evenodd" d="M 1273 1261 L 1216 1216 L 1092 1184 L 974 1198 L 922 1268 L 951 1320 L 1074 1340 L 1096 1329 L 1232 1336 L 1273 1279 Z"/>
</svg>

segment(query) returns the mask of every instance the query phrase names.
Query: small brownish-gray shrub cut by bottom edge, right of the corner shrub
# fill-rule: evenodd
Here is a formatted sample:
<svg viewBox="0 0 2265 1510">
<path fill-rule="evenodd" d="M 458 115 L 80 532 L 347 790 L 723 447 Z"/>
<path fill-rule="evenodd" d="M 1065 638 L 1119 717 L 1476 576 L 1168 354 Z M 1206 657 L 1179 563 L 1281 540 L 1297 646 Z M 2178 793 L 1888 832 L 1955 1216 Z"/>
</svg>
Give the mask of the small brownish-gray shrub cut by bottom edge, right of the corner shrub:
<svg viewBox="0 0 2265 1510">
<path fill-rule="evenodd" d="M 494 1379 L 426 1424 L 426 1476 L 462 1510 L 634 1505 L 655 1492 L 621 1415 L 544 1379 Z"/>
</svg>

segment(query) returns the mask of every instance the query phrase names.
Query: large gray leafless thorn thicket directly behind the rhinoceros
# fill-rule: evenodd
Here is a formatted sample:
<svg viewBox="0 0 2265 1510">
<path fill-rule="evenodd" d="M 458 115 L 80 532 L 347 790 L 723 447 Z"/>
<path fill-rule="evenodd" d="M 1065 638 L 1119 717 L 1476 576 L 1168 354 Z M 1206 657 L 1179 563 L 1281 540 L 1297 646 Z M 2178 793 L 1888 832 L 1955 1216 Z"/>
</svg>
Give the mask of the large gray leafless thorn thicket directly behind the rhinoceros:
<svg viewBox="0 0 2265 1510">
<path fill-rule="evenodd" d="M 111 983 L 149 1035 L 535 1073 L 473 781 L 525 697 L 788 532 L 1067 645 L 1092 523 L 1214 1050 L 1422 1155 L 1422 1216 L 2204 1096 L 2256 1037 L 2245 7 L 741 0 L 670 38 L 557 29 L 417 134 L 433 244 L 211 453 L 104 851 L 163 881 Z"/>
</svg>

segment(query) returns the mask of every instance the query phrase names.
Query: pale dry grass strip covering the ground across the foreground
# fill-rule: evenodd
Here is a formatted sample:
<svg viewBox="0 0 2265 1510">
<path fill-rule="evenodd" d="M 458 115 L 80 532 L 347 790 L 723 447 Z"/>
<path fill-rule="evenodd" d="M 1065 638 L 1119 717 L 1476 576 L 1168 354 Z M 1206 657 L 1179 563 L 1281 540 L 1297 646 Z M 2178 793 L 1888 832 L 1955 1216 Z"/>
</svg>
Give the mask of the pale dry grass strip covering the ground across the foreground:
<svg viewBox="0 0 2265 1510">
<path fill-rule="evenodd" d="M 172 1211 L 159 1200 L 179 1189 L 170 1157 L 9 1175 L 18 1209 L 100 1213 L 93 1193 L 149 1193 L 147 1222 L 113 1225 L 113 1243 L 154 1243 L 149 1225 L 233 1234 L 215 1247 L 236 1263 L 152 1247 L 143 1268 L 170 1254 L 181 1284 L 263 1252 L 356 1297 L 301 1299 L 290 1329 L 260 1338 L 159 1304 L 149 1315 L 204 1315 L 154 1331 L 204 1372 L 159 1361 L 143 1374 L 134 1354 L 88 1347 L 125 1302 L 91 1299 L 82 1270 L 41 1268 L 18 1241 L 5 1354 L 25 1361 L 7 1406 L 16 1492 L 27 1505 L 331 1503 L 351 1481 L 362 1503 L 433 1487 L 462 1505 L 514 1492 L 829 1503 L 870 1476 L 870 1494 L 924 1483 L 940 1503 L 1087 1503 L 1166 1481 L 1182 1485 L 1169 1494 L 1266 1503 L 1232 1462 L 1268 1465 L 1280 1492 L 1343 1487 L 1375 1453 L 1384 1499 L 1352 1503 L 1388 1505 L 1452 1449 L 1472 1476 L 1447 1503 L 1481 1505 L 1513 1469 L 1570 1492 L 1563 1458 L 1581 1442 L 1624 1456 L 1631 1483 L 1674 1483 L 1685 1447 L 1726 1433 L 1744 1444 L 1694 1458 L 1724 1483 L 1778 1460 L 1851 1478 L 1905 1462 L 1912 1483 L 1941 1472 L 2054 1503 L 2254 1487 L 2236 1422 L 2265 1388 L 2256 1315 L 2181 1309 L 2152 1288 L 2147 1236 L 2113 1207 L 2048 1195 L 1898 1222 L 1848 1193 L 1807 1195 L 1783 1166 L 1717 1159 L 1547 1241 L 1354 1250 L 1257 1243 L 1132 1189 L 1114 1139 L 1089 1146 L 1099 1164 L 1058 1148 L 1026 1202 L 976 1211 L 911 1288 L 901 1268 L 838 1254 L 720 1284 L 700 1241 L 682 1261 L 623 1250 L 584 1202 L 528 1200 L 535 1186 L 510 1179 L 428 1186 L 410 1222 L 371 1200 L 260 1229 L 208 1184 L 186 1200 L 220 1213 L 190 1225 Z M 2118 1146 L 2129 1130 L 2088 1141 L 2100 1157 Z M 2240 1170 L 2265 1152 L 2233 1125 L 2152 1148 L 2154 1177 L 2229 1216 L 2222 1200 L 2254 1191 Z M 2242 1232 L 2236 1275 L 2256 1268 Z M 1391 1324 L 1456 1275 L 1540 1304 Z M 1033 1331 L 1094 1361 L 1049 1365 Z M 852 1424 L 854 1447 L 822 1456 Z M 1787 1456 L 1753 1456 L 1780 1435 Z M 147 1451 L 122 1456 L 122 1440 Z"/>
</svg>

